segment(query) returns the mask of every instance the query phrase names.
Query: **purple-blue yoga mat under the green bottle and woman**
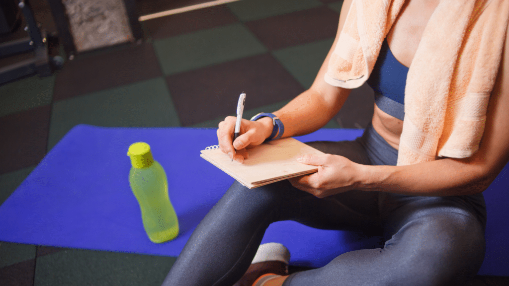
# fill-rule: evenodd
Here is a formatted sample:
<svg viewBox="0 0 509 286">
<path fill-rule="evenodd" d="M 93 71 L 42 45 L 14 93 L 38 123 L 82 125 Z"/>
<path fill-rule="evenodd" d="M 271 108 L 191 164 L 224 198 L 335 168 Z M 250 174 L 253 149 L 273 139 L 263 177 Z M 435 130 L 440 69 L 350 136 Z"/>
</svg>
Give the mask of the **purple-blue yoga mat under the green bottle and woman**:
<svg viewBox="0 0 509 286">
<path fill-rule="evenodd" d="M 358 129 L 322 129 L 301 141 L 351 140 Z M 179 217 L 179 236 L 163 244 L 145 234 L 140 210 L 128 182 L 128 147 L 147 142 L 165 169 L 168 193 Z M 77 125 L 44 157 L 0 206 L 0 241 L 177 256 L 192 231 L 233 183 L 200 158 L 216 145 L 215 129 L 105 128 Z M 487 255 L 479 272 L 509 275 L 509 230 L 504 168 L 485 192 L 488 204 Z M 503 224 L 506 225 L 506 224 Z M 375 248 L 380 237 L 323 231 L 293 221 L 269 226 L 263 243 L 280 242 L 291 264 L 320 267 L 344 252 Z"/>
</svg>

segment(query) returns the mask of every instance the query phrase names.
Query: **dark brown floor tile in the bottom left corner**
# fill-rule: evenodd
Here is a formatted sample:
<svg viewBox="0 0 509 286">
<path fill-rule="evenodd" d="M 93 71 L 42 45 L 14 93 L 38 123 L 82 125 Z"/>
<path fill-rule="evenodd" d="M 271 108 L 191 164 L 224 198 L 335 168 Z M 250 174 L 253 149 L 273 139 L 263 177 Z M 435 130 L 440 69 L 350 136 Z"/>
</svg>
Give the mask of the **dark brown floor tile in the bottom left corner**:
<svg viewBox="0 0 509 286">
<path fill-rule="evenodd" d="M 0 285 L 33 286 L 35 259 L 0 268 Z"/>
</svg>

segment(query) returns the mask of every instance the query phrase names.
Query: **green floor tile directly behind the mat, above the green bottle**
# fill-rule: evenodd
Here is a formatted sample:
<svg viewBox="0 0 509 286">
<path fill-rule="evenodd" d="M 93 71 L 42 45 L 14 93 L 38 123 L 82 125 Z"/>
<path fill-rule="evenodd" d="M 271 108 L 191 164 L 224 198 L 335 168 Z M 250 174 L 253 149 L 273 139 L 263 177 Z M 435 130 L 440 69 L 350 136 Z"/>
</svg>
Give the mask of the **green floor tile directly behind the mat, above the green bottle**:
<svg viewBox="0 0 509 286">
<path fill-rule="evenodd" d="M 56 101 L 51 113 L 48 150 L 81 123 L 109 127 L 180 126 L 162 78 Z"/>
</svg>

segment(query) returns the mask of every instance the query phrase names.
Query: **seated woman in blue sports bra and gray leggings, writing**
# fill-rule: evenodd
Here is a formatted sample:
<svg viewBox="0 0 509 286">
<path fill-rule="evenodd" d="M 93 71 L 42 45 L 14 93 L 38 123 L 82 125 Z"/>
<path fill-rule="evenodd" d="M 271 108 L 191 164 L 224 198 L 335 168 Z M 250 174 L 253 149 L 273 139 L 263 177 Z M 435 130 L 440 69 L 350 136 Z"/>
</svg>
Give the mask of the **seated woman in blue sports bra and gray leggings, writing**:
<svg viewBox="0 0 509 286">
<path fill-rule="evenodd" d="M 352 1 L 356 10 L 351 9 Z M 345 22 L 349 23 L 347 13 L 361 10 L 359 3 L 344 1 L 336 39 L 312 87 L 273 112 L 284 131 L 274 124 L 273 116 L 244 120 L 243 134 L 232 142 L 235 118 L 228 117 L 217 130 L 224 153 L 242 162 L 249 148 L 264 142 L 273 131 L 283 137 L 307 134 L 333 118 L 350 90 L 324 78 L 337 47 L 347 41 L 340 37 Z M 196 228 L 164 285 L 235 284 L 248 269 L 268 225 L 289 219 L 317 228 L 383 235 L 386 243 L 383 249 L 342 254 L 319 269 L 248 282 L 244 277 L 236 285 L 462 285 L 477 273 L 485 248 L 482 192 L 509 159 L 507 22 L 500 39 L 500 67 L 494 67 L 496 80 L 490 88 L 476 152 L 468 157 L 426 157 L 399 164 L 403 160 L 401 152 L 398 155 L 403 119 L 408 116 L 403 113 L 412 110 L 403 107 L 410 98 L 405 95 L 403 102 L 405 83 L 411 82 L 406 81 L 406 72 L 419 60 L 414 56 L 428 22 L 436 18 L 436 10 L 444 12 L 438 11 L 443 8 L 440 5 L 439 0 L 410 0 L 394 12 L 398 16 L 383 35 L 376 64 L 369 67 L 368 83 L 377 98 L 372 123 L 363 136 L 354 141 L 310 143 L 327 154 L 307 154 L 300 162 L 319 166 L 318 173 L 255 190 L 234 183 Z M 471 14 L 475 17 L 485 13 L 475 9 Z M 473 37 L 468 26 L 464 33 L 467 40 Z M 452 66 L 455 71 L 462 68 L 461 63 Z M 387 82 L 387 71 L 394 73 L 395 82 Z M 447 123 L 444 126 L 443 132 L 450 129 Z"/>
</svg>

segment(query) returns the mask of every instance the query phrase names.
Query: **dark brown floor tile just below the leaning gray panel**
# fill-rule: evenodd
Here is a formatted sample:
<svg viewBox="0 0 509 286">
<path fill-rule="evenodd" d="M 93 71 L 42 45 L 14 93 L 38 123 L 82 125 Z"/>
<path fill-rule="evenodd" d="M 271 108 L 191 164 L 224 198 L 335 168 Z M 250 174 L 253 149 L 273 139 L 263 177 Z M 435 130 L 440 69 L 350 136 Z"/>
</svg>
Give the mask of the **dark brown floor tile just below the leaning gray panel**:
<svg viewBox="0 0 509 286">
<path fill-rule="evenodd" d="M 56 74 L 54 99 L 71 98 L 161 76 L 152 45 L 126 45 L 67 61 Z"/>
</svg>

